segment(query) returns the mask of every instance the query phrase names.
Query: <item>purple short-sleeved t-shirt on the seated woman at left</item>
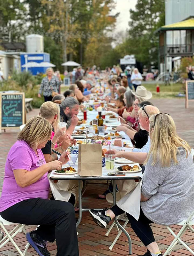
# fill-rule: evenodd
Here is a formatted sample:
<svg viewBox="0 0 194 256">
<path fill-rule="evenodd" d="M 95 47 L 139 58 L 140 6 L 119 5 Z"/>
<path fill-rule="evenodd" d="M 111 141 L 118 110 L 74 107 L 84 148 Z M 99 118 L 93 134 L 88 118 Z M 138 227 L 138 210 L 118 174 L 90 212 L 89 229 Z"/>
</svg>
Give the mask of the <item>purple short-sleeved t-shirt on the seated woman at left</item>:
<svg viewBox="0 0 194 256">
<path fill-rule="evenodd" d="M 45 159 L 41 149 L 37 149 L 38 156 L 32 148 L 24 141 L 17 141 L 10 149 L 6 163 L 5 176 L 2 194 L 0 198 L 0 212 L 14 204 L 30 198 L 48 199 L 49 181 L 47 173 L 33 184 L 21 188 L 17 185 L 13 170 L 24 169 L 32 171 L 42 164 L 45 164 Z"/>
</svg>

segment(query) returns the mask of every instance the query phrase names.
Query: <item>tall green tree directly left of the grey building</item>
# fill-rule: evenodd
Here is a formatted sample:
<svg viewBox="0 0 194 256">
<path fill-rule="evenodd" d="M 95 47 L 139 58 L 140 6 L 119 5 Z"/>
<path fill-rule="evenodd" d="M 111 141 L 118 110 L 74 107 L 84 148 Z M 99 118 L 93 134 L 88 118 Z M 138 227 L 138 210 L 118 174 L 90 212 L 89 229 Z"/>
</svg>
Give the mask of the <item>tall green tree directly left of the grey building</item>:
<svg viewBox="0 0 194 256">
<path fill-rule="evenodd" d="M 164 0 L 138 0 L 136 9 L 130 10 L 130 14 L 131 28 L 127 40 L 130 50 L 143 64 L 153 62 L 157 65 L 158 35 L 155 30 L 165 24 Z"/>
</svg>

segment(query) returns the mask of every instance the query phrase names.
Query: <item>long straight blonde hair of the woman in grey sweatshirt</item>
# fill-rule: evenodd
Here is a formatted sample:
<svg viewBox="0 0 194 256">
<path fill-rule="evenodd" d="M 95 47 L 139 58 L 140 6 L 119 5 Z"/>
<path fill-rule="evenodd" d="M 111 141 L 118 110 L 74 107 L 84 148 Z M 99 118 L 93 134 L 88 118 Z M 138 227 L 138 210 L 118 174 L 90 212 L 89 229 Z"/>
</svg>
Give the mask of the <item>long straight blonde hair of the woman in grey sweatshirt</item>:
<svg viewBox="0 0 194 256">
<path fill-rule="evenodd" d="M 171 165 L 172 160 L 174 164 L 178 164 L 176 158 L 177 147 L 183 147 L 186 150 L 186 157 L 190 152 L 188 143 L 177 135 L 174 120 L 171 116 L 164 113 L 150 117 L 150 139 L 151 147 L 145 163 L 147 163 L 148 158 L 152 155 L 152 165 L 160 162 L 162 167 L 168 167 Z"/>
</svg>

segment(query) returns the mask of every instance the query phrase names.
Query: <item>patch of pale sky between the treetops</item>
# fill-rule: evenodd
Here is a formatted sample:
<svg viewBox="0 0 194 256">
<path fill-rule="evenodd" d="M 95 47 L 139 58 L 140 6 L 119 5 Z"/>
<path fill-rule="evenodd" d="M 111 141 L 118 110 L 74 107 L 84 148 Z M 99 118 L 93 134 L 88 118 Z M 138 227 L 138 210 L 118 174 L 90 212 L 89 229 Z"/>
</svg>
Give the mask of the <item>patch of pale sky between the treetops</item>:
<svg viewBox="0 0 194 256">
<path fill-rule="evenodd" d="M 114 13 L 120 12 L 120 15 L 117 17 L 116 21 L 116 31 L 126 30 L 129 28 L 128 22 L 130 20 L 130 9 L 135 9 L 137 0 L 115 0 L 116 8 Z"/>
</svg>

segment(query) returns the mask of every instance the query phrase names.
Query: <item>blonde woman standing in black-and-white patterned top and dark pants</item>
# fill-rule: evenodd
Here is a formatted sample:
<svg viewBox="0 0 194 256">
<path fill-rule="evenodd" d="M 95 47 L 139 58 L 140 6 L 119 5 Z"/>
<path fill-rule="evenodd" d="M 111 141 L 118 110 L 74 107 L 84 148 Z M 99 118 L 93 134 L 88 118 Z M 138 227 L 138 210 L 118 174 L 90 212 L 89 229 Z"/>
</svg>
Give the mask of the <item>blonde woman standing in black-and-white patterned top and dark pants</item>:
<svg viewBox="0 0 194 256">
<path fill-rule="evenodd" d="M 52 101 L 52 98 L 59 93 L 59 87 L 61 82 L 54 76 L 54 71 L 52 68 L 47 68 L 46 75 L 41 82 L 41 87 L 39 89 L 38 97 L 41 98 L 41 93 L 43 92 L 44 101 Z"/>
</svg>

